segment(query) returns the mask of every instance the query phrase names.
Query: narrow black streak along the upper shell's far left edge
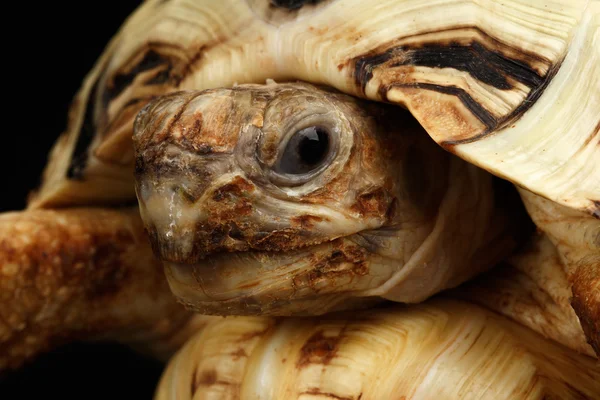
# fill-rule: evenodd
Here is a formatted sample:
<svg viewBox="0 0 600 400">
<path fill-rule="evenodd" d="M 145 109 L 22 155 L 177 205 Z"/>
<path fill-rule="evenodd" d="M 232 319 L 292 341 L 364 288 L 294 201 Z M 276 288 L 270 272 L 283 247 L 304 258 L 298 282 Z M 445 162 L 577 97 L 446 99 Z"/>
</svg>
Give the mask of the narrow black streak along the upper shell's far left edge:
<svg viewBox="0 0 600 400">
<path fill-rule="evenodd" d="M 79 135 L 77 136 L 77 142 L 75 143 L 75 148 L 73 149 L 71 163 L 67 169 L 68 179 L 83 179 L 83 172 L 87 166 L 87 160 L 89 156 L 89 147 L 94 140 L 94 135 L 96 134 L 96 116 L 94 110 L 96 108 L 96 95 L 98 93 L 99 82 L 100 78 L 96 79 L 96 82 L 90 89 L 86 99 L 85 112 L 83 114 L 81 127 L 79 128 Z"/>
</svg>

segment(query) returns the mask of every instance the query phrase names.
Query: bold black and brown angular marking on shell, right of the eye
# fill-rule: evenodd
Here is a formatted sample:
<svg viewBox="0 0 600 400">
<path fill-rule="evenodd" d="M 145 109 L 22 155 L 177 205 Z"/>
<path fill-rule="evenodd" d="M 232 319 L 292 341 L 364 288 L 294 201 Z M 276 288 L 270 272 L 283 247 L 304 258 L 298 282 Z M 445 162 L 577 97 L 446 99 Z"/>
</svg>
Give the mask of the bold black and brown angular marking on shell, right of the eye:
<svg viewBox="0 0 600 400">
<path fill-rule="evenodd" d="M 427 38 L 433 34 L 446 33 L 456 36 L 464 32 L 474 35 L 463 39 L 453 37 L 448 41 Z M 419 36 L 424 36 L 423 42 L 414 43 Z M 499 90 L 513 90 L 516 82 L 530 88 L 517 107 L 498 118 L 464 89 L 454 85 L 444 86 L 418 81 L 386 82 L 384 79 L 378 89 L 379 97 L 383 101 L 387 101 L 387 93 L 397 87 L 436 91 L 457 97 L 485 126 L 482 133 L 466 139 L 445 141 L 441 143 L 442 146 L 473 142 L 520 118 L 541 96 L 560 67 L 560 62 L 552 65 L 539 55 L 509 47 L 476 27 L 454 28 L 419 36 L 398 38 L 392 43 L 386 43 L 367 54 L 351 59 L 349 70 L 360 92 L 365 94 L 366 87 L 377 69 L 383 71 L 409 66 L 456 69 L 467 72 L 474 79 Z"/>
</svg>

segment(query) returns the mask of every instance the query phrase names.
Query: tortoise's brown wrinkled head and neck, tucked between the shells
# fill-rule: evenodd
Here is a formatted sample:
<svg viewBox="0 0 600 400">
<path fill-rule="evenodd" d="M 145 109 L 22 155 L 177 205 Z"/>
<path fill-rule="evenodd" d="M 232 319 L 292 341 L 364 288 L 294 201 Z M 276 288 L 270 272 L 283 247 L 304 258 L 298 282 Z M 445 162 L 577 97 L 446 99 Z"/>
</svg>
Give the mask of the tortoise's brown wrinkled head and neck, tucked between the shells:
<svg viewBox="0 0 600 400">
<path fill-rule="evenodd" d="M 205 314 L 420 301 L 514 247 L 489 174 L 396 106 L 300 83 L 179 92 L 134 143 L 154 251 Z"/>
</svg>

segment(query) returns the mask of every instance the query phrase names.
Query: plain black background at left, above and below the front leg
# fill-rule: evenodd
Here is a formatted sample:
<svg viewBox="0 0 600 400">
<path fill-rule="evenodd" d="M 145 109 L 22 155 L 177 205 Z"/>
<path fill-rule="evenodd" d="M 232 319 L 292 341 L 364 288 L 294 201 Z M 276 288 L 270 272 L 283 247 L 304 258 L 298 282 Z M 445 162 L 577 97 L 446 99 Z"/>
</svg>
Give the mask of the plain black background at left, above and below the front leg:
<svg viewBox="0 0 600 400">
<path fill-rule="evenodd" d="M 140 1 L 10 2 L 3 9 L 0 211 L 39 183 L 87 72 Z M 150 399 L 163 366 L 113 344 L 71 344 L 0 377 L 0 398 Z"/>
</svg>

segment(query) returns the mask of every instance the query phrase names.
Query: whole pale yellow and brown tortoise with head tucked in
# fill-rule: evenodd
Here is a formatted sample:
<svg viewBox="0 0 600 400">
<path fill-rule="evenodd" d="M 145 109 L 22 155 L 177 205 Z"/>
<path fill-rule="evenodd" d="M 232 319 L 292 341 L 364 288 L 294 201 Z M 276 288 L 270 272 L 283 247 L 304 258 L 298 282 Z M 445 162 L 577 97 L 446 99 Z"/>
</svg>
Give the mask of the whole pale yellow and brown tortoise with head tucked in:
<svg viewBox="0 0 600 400">
<path fill-rule="evenodd" d="M 0 367 L 108 338 L 181 348 L 160 399 L 598 397 L 599 25 L 144 2 L 0 216 Z"/>
</svg>

